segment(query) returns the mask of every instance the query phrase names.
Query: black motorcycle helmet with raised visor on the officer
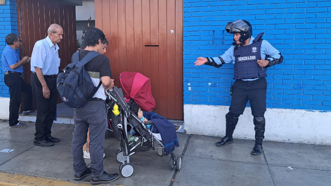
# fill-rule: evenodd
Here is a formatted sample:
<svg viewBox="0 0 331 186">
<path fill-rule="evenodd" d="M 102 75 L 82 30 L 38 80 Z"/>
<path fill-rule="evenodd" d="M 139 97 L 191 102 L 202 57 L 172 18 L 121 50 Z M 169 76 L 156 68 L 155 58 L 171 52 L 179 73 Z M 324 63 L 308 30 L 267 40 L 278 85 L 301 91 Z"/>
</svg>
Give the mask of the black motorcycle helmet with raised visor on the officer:
<svg viewBox="0 0 331 186">
<path fill-rule="evenodd" d="M 250 23 L 242 19 L 227 23 L 225 30 L 230 34 L 239 32 L 241 35 L 239 42 L 241 43 L 244 43 L 253 33 Z"/>
</svg>

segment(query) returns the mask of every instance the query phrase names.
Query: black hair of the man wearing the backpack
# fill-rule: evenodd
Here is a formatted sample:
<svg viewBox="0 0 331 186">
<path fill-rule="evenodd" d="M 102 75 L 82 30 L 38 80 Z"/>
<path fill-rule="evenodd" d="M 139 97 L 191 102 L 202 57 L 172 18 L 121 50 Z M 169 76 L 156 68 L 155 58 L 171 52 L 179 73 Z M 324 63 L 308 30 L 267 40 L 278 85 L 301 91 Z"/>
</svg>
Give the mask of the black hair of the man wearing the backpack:
<svg viewBox="0 0 331 186">
<path fill-rule="evenodd" d="M 91 27 L 84 35 L 84 46 L 94 47 L 99 44 L 99 39 L 101 40 L 101 44 L 108 44 L 104 32 L 98 28 Z"/>
</svg>

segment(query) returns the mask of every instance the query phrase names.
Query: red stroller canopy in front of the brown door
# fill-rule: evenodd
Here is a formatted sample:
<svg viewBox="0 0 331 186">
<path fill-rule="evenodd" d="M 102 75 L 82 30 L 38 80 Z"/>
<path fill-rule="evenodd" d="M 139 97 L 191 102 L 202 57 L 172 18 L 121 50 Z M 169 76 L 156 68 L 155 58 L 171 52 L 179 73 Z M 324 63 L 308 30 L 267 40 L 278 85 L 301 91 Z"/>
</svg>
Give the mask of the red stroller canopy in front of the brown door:
<svg viewBox="0 0 331 186">
<path fill-rule="evenodd" d="M 124 97 L 132 98 L 144 111 L 151 111 L 155 108 L 155 99 L 148 77 L 139 72 L 122 72 L 120 81 L 127 94 Z"/>
</svg>

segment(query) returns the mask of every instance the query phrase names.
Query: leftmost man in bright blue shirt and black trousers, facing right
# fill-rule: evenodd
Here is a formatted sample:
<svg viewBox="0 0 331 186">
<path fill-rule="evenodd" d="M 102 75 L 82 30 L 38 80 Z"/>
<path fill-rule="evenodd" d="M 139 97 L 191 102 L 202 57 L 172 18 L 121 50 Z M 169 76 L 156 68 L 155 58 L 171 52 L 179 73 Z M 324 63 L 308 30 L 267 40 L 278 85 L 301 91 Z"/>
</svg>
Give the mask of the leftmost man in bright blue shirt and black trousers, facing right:
<svg viewBox="0 0 331 186">
<path fill-rule="evenodd" d="M 21 46 L 21 40 L 16 34 L 6 36 L 7 46 L 3 51 L 2 68 L 5 71 L 5 84 L 9 87 L 9 128 L 26 127 L 26 123 L 18 121 L 18 110 L 22 101 L 22 92 L 24 92 L 23 115 L 31 113 L 32 108 L 32 90 L 31 85 L 23 79 L 23 64 L 30 58 L 24 56 L 20 60 L 18 49 Z"/>
</svg>

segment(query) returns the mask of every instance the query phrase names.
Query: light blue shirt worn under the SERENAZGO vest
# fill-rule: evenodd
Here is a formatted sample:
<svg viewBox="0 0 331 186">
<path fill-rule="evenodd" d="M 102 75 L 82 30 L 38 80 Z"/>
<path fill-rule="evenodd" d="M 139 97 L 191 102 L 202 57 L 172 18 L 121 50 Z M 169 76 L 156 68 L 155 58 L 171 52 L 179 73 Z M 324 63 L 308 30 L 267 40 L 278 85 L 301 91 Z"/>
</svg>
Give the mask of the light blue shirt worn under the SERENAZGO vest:
<svg viewBox="0 0 331 186">
<path fill-rule="evenodd" d="M 249 44 L 252 44 L 254 40 L 254 37 L 250 37 L 249 40 Z M 233 55 L 233 49 L 235 48 L 235 46 L 231 46 L 229 49 L 227 49 L 227 51 L 225 51 L 225 53 L 223 55 L 221 55 L 220 57 L 224 60 L 225 63 L 230 63 L 232 61 L 233 64 L 235 64 L 235 56 Z M 265 58 L 266 55 L 269 55 L 270 60 L 272 60 L 271 57 L 274 57 L 276 59 L 280 58 L 280 54 L 279 51 L 277 49 L 275 49 L 274 47 L 271 46 L 271 44 L 269 42 L 267 42 L 266 40 L 262 40 L 262 44 L 261 44 L 261 57 Z M 222 64 L 221 59 L 218 57 L 212 57 L 215 60 L 215 63 L 217 63 L 218 65 Z M 258 78 L 255 79 L 242 79 L 242 80 L 256 80 Z"/>
</svg>

